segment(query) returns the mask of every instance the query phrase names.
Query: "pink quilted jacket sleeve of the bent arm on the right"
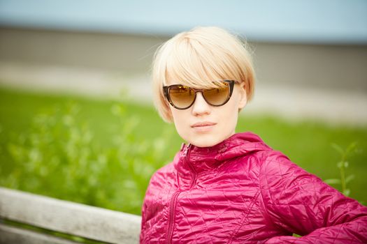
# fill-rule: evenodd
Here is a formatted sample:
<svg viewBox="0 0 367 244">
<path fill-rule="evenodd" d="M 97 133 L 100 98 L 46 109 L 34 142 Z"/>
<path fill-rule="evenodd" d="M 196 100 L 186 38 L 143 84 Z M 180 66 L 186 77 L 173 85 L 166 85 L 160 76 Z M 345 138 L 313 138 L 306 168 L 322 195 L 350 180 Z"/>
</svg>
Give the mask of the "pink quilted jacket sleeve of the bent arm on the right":
<svg viewBox="0 0 367 244">
<path fill-rule="evenodd" d="M 282 233 L 266 243 L 367 243 L 367 208 L 345 197 L 278 151 L 259 172 L 264 207 Z"/>
</svg>

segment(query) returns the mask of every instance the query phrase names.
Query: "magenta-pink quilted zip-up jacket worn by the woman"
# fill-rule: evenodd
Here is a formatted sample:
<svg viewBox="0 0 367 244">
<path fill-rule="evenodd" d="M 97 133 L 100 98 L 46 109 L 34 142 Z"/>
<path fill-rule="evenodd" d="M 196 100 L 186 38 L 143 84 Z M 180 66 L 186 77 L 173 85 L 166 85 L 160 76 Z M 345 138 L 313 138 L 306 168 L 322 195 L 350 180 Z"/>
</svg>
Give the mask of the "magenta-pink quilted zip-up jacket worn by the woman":
<svg viewBox="0 0 367 244">
<path fill-rule="evenodd" d="M 182 145 L 152 176 L 141 224 L 141 243 L 367 243 L 365 206 L 252 132 Z"/>
</svg>

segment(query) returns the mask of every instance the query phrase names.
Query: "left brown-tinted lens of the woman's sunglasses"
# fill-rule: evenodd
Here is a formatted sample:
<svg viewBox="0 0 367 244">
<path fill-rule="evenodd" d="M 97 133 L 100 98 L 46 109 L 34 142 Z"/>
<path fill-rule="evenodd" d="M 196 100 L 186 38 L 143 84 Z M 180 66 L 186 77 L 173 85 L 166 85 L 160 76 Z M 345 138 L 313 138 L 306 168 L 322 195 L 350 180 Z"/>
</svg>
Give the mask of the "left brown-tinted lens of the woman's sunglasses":
<svg viewBox="0 0 367 244">
<path fill-rule="evenodd" d="M 195 92 L 187 86 L 173 86 L 168 92 L 175 107 L 181 109 L 189 107 L 195 98 Z"/>
</svg>

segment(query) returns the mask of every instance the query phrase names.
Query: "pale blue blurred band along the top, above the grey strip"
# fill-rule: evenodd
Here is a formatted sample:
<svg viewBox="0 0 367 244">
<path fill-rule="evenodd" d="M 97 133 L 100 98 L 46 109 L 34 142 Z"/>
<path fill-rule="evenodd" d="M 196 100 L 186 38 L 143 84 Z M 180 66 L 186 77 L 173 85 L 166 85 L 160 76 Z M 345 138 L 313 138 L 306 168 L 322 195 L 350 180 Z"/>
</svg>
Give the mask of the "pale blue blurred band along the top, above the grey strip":
<svg viewBox="0 0 367 244">
<path fill-rule="evenodd" d="M 0 25 L 171 36 L 222 26 L 248 40 L 367 44 L 367 0 L 0 0 Z"/>
</svg>

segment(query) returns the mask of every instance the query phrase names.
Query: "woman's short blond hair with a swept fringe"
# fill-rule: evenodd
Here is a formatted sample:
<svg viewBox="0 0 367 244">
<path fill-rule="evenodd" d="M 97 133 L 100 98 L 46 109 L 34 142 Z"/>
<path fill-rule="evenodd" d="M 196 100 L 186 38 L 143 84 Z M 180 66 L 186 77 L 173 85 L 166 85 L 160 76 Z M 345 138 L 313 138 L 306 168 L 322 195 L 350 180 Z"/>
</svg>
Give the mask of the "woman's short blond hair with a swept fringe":
<svg viewBox="0 0 367 244">
<path fill-rule="evenodd" d="M 254 93 L 254 68 L 247 43 L 215 26 L 178 33 L 155 52 L 152 63 L 154 105 L 164 121 L 173 121 L 163 86 L 213 87 L 217 80 L 245 82 L 247 102 Z"/>
</svg>

